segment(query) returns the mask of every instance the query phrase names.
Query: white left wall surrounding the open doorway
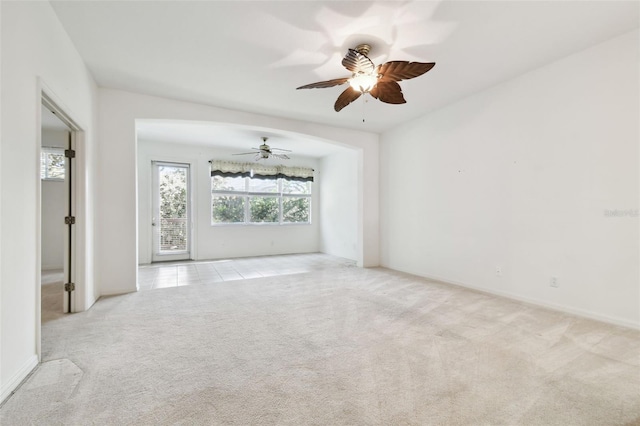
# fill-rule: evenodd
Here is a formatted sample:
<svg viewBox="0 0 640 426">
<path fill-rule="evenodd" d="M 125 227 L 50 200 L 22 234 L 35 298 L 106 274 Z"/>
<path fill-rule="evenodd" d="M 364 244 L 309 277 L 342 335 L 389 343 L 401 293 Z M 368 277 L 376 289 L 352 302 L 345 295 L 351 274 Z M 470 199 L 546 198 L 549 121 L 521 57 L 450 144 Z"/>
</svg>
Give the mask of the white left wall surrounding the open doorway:
<svg viewBox="0 0 640 426">
<path fill-rule="evenodd" d="M 9 395 L 38 361 L 39 81 L 86 131 L 81 161 L 92 158 L 96 95 L 91 76 L 48 2 L 2 2 L 1 18 L 0 400 Z M 83 185 L 78 189 L 93 193 L 92 188 Z M 80 207 L 88 209 L 90 197 L 85 197 L 84 202 Z M 79 226 L 81 230 L 90 227 L 86 219 Z M 90 231 L 81 232 L 90 238 Z M 80 256 L 86 260 L 92 256 L 92 242 L 85 245 L 87 248 Z M 85 261 L 84 265 L 89 265 L 82 271 L 86 275 L 77 278 L 89 290 L 82 297 L 93 298 L 93 283 L 87 278 L 93 271 L 90 262 Z"/>
</svg>

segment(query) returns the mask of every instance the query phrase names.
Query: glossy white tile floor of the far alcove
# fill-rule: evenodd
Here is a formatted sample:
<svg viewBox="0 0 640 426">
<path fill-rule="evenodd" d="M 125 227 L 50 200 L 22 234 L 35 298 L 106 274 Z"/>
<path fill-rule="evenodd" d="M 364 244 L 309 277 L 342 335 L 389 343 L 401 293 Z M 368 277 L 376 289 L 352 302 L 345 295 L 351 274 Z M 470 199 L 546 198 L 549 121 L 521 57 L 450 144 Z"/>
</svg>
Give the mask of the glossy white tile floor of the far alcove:
<svg viewBox="0 0 640 426">
<path fill-rule="evenodd" d="M 355 266 L 355 262 L 323 253 L 309 253 L 152 263 L 138 267 L 138 288 L 142 291 L 275 275 L 301 274 L 337 265 Z"/>
</svg>

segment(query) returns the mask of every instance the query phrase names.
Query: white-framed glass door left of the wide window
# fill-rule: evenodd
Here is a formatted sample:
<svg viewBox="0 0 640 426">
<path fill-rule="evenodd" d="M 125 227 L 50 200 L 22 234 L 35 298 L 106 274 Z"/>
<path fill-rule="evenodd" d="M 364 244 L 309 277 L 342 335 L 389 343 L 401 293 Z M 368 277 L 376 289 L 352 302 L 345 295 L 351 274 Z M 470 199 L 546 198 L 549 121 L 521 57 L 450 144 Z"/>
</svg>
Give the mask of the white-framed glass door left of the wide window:
<svg viewBox="0 0 640 426">
<path fill-rule="evenodd" d="M 191 258 L 189 165 L 153 162 L 153 262 Z"/>
</svg>

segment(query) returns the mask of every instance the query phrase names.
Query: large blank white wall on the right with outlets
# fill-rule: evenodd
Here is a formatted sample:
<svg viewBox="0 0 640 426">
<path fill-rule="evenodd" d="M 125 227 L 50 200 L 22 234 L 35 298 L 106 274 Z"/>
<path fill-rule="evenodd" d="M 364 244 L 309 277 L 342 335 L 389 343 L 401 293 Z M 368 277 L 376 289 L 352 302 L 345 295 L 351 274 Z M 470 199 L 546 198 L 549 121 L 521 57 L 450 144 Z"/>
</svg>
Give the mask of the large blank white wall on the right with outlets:
<svg viewBox="0 0 640 426">
<path fill-rule="evenodd" d="M 383 134 L 382 264 L 640 326 L 638 50 L 635 31 Z"/>
</svg>

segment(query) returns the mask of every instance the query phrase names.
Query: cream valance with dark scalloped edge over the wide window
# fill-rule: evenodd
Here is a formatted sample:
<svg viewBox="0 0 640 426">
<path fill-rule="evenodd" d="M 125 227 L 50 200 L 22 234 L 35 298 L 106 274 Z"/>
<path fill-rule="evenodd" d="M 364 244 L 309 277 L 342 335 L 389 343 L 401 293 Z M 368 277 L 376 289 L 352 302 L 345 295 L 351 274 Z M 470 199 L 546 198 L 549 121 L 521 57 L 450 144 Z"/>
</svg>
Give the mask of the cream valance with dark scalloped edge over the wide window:
<svg viewBox="0 0 640 426">
<path fill-rule="evenodd" d="M 308 167 L 267 166 L 255 163 L 211 160 L 211 176 L 254 177 L 257 179 L 294 180 L 313 182 L 313 169 Z"/>
</svg>

